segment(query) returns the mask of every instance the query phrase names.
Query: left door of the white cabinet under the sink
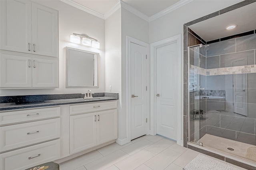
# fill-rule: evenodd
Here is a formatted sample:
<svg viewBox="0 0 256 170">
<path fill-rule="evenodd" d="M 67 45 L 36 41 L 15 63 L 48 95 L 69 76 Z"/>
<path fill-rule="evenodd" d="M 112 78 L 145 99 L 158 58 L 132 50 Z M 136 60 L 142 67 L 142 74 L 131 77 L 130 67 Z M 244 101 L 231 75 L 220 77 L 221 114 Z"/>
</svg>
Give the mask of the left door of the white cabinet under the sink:
<svg viewBox="0 0 256 170">
<path fill-rule="evenodd" d="M 70 116 L 69 121 L 70 154 L 97 145 L 96 113 Z"/>
</svg>

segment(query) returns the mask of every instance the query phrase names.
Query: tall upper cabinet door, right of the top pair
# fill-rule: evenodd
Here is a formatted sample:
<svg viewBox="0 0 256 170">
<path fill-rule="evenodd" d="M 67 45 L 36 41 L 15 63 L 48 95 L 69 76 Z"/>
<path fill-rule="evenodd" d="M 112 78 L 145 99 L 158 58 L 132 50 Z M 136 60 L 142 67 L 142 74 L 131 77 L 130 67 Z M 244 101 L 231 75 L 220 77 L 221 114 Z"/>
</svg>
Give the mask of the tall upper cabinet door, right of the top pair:
<svg viewBox="0 0 256 170">
<path fill-rule="evenodd" d="M 32 53 L 58 57 L 58 12 L 33 2 Z"/>
</svg>

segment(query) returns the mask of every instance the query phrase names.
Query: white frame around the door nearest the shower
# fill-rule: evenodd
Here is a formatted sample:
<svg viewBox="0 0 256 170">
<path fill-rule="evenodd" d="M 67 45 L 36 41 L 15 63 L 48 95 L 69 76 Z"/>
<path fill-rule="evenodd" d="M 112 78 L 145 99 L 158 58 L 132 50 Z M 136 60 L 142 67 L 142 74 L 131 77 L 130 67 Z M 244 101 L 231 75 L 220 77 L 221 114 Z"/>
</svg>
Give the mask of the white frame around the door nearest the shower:
<svg viewBox="0 0 256 170">
<path fill-rule="evenodd" d="M 181 34 L 150 44 L 150 134 L 156 135 L 156 48 L 174 42 L 177 43 L 178 57 L 177 144 L 183 146 L 183 70 L 181 69 L 183 68 L 183 58 L 181 56 Z"/>
</svg>

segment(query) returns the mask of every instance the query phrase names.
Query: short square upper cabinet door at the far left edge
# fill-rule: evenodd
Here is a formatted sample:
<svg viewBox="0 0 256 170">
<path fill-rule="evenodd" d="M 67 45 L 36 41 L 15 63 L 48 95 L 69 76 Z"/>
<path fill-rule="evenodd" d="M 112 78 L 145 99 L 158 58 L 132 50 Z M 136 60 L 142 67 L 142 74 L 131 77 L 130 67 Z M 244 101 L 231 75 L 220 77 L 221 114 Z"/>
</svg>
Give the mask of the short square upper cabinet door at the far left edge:
<svg viewBox="0 0 256 170">
<path fill-rule="evenodd" d="M 31 87 L 31 58 L 1 55 L 1 87 Z"/>
</svg>

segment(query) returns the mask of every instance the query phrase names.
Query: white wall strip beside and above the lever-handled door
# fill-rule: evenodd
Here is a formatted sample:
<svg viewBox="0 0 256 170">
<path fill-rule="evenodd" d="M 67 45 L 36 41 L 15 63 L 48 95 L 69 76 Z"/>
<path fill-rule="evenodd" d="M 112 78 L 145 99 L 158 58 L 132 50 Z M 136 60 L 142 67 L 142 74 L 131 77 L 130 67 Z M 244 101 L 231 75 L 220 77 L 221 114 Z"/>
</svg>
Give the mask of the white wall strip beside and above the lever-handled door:
<svg viewBox="0 0 256 170">
<path fill-rule="evenodd" d="M 128 10 L 121 8 L 122 12 L 122 112 L 119 113 L 119 124 L 118 127 L 120 139 L 125 139 L 127 137 L 126 129 L 126 36 L 136 38 L 142 42 L 148 43 L 148 22 L 142 18 L 132 14 Z"/>
</svg>

